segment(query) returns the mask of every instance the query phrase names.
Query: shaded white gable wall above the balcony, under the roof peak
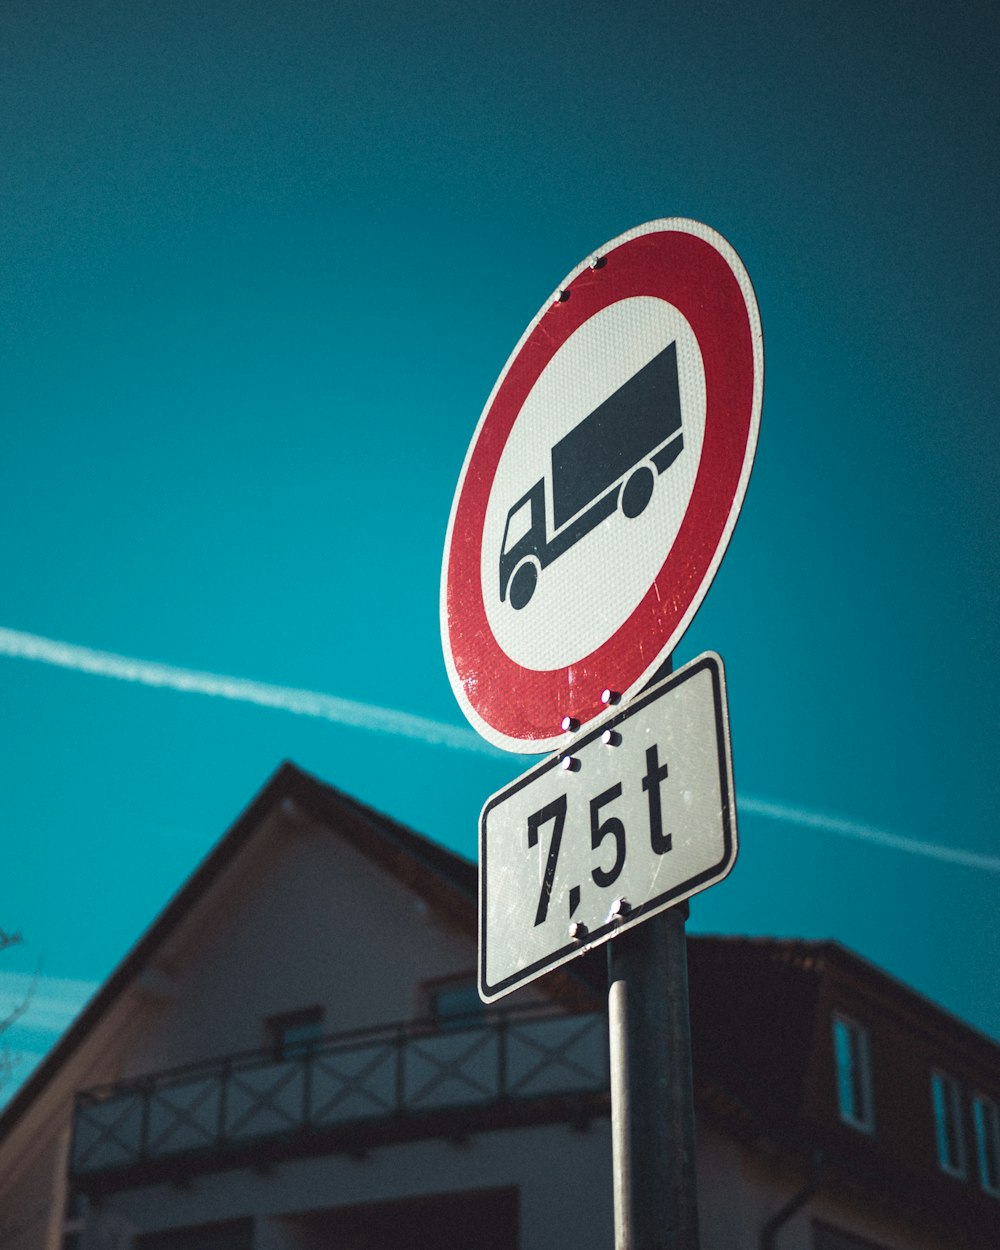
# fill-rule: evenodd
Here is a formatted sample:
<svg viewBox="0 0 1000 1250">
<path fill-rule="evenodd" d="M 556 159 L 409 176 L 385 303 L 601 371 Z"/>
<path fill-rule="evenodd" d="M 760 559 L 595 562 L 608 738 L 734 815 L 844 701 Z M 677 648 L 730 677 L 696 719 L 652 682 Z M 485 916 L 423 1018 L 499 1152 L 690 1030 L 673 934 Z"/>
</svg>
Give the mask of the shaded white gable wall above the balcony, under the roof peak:
<svg viewBox="0 0 1000 1250">
<path fill-rule="evenodd" d="M 421 982 L 475 968 L 475 940 L 329 830 L 278 816 L 158 960 L 172 995 L 128 1058 L 141 1075 L 255 1050 L 269 1016 L 324 1031 L 412 1019 Z"/>
</svg>

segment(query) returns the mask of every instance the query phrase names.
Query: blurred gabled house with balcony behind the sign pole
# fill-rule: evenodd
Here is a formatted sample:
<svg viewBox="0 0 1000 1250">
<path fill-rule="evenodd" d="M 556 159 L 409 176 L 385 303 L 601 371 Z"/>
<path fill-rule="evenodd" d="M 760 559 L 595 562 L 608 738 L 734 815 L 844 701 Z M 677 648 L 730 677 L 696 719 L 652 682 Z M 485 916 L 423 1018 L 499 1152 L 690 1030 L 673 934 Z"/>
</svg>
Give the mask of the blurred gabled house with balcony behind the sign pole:
<svg viewBox="0 0 1000 1250">
<path fill-rule="evenodd" d="M 476 869 L 282 766 L 0 1116 L 2 1250 L 614 1244 L 606 969 L 475 991 Z M 1000 1244 L 1000 1048 L 689 940 L 704 1250 Z"/>
</svg>

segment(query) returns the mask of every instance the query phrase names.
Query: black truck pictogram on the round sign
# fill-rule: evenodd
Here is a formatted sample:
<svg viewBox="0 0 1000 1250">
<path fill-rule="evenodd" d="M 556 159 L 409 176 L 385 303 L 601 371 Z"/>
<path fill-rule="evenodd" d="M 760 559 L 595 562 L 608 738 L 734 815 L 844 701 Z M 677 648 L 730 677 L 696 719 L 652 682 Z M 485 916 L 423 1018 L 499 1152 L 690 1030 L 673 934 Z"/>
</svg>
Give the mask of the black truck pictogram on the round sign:
<svg viewBox="0 0 1000 1250">
<path fill-rule="evenodd" d="M 658 474 L 684 449 L 678 345 L 664 348 L 556 442 L 551 471 L 508 512 L 500 550 L 500 601 L 524 608 L 539 574 L 621 505 L 635 518 Z M 552 525 L 545 519 L 546 485 Z"/>
</svg>

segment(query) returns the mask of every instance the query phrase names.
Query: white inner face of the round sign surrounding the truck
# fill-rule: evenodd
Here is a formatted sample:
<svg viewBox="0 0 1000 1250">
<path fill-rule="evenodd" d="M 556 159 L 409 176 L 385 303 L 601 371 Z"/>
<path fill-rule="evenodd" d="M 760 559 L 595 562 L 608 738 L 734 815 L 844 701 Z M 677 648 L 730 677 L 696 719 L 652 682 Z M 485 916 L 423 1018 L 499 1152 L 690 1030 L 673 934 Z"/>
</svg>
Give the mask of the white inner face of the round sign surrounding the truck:
<svg viewBox="0 0 1000 1250">
<path fill-rule="evenodd" d="M 649 442 L 649 449 L 642 450 L 655 455 L 659 445 L 666 442 L 675 452 L 669 472 L 656 482 L 641 514 L 628 516 L 621 508 L 615 508 L 545 565 L 528 602 L 519 602 L 512 594 L 501 599 L 500 561 L 506 552 L 531 545 L 520 532 L 508 530 L 511 508 L 529 495 L 539 480 L 539 466 L 548 468 L 551 456 L 554 476 L 552 489 L 544 498 L 544 531 L 556 535 L 564 525 L 571 528 L 574 520 L 584 529 L 588 509 L 595 500 L 601 510 L 600 501 L 609 486 L 605 478 L 610 484 L 622 478 L 615 452 L 625 439 L 624 422 L 609 421 L 605 426 L 612 449 L 600 445 L 600 435 L 605 432 L 601 429 L 590 436 L 588 452 L 595 468 L 606 469 L 606 474 L 600 474 L 594 485 L 584 490 L 574 481 L 579 499 L 568 505 L 572 509 L 569 518 L 558 511 L 561 500 L 556 488 L 565 485 L 559 478 L 559 452 L 576 450 L 570 438 L 574 430 L 578 444 L 582 444 L 588 438 L 584 422 L 590 414 L 600 414 L 616 392 L 626 400 L 634 394 L 636 412 L 641 415 L 645 409 L 641 374 L 671 344 L 676 350 L 669 361 L 668 381 L 679 389 L 684 422 L 680 428 L 674 426 L 669 420 L 669 405 L 664 404 L 664 421 L 650 422 L 651 429 L 640 431 L 645 435 L 642 441 Z M 655 381 L 654 375 L 651 382 Z M 655 386 L 650 385 L 649 390 L 654 402 L 661 398 Z M 539 452 L 540 431 L 546 440 L 544 454 Z M 671 304 L 649 296 L 619 300 L 585 321 L 566 340 L 518 414 L 486 505 L 480 561 L 482 602 L 492 635 L 509 659 L 525 669 L 562 669 L 582 660 L 618 632 L 656 580 L 664 551 L 676 541 L 698 476 L 704 435 L 705 368 L 694 331 Z M 638 455 L 641 465 L 641 451 Z M 626 481 L 630 470 L 636 471 L 636 466 L 625 465 Z M 594 476 L 582 465 L 572 471 L 578 480 Z M 581 506 L 575 508 L 580 500 Z M 521 511 L 526 535 L 531 528 L 530 505 Z M 650 541 L 649 535 L 655 535 L 655 540 Z M 602 570 L 599 595 L 594 594 L 594 566 Z M 511 581 L 516 576 L 515 568 Z M 548 628 L 552 620 L 559 620 L 561 628 Z"/>
</svg>

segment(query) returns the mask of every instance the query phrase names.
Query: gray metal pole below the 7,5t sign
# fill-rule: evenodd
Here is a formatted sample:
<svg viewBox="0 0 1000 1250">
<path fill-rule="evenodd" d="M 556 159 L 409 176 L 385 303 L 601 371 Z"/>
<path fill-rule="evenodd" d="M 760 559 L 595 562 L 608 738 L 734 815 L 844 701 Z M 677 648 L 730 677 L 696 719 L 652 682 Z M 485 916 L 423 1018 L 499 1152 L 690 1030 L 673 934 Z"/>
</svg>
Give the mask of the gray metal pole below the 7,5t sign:
<svg viewBox="0 0 1000 1250">
<path fill-rule="evenodd" d="M 608 942 L 615 1250 L 698 1250 L 688 905 Z"/>
</svg>

